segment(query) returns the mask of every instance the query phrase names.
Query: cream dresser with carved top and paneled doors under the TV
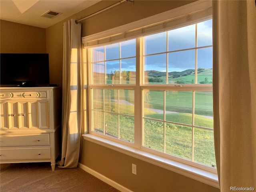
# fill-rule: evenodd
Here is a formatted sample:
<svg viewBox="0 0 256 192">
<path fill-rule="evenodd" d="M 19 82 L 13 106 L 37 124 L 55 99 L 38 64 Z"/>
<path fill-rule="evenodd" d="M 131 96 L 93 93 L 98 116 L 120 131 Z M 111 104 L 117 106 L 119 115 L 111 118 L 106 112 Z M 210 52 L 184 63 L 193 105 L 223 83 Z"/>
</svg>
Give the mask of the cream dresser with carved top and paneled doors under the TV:
<svg viewBox="0 0 256 192">
<path fill-rule="evenodd" d="M 51 162 L 60 154 L 58 87 L 0 88 L 0 163 Z"/>
</svg>

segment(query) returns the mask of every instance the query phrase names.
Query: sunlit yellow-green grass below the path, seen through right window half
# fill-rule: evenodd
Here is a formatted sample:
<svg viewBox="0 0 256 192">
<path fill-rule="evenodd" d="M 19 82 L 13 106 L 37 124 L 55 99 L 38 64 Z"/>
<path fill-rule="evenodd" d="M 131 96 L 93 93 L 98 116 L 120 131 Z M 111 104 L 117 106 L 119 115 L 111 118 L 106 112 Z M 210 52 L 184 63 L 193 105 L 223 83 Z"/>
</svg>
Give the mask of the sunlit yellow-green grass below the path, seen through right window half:
<svg viewBox="0 0 256 192">
<path fill-rule="evenodd" d="M 148 115 L 160 119 L 161 114 Z M 166 114 L 166 120 L 191 124 L 192 115 L 186 113 Z M 198 126 L 211 127 L 213 120 L 195 116 Z M 192 127 L 172 123 L 165 125 L 165 152 L 181 158 L 192 160 Z M 144 146 L 164 152 L 164 124 L 156 120 L 144 120 Z M 194 128 L 194 161 L 216 166 L 214 156 L 214 138 L 212 130 Z"/>
</svg>

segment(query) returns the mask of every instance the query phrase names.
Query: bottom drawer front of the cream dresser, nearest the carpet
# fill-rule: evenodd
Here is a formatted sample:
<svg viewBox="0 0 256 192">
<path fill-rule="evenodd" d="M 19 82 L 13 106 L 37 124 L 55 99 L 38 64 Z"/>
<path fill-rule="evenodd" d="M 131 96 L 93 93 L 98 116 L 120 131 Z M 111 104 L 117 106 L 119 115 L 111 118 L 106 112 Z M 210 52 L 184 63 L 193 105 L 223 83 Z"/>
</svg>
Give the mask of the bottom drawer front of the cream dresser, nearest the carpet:
<svg viewBox="0 0 256 192">
<path fill-rule="evenodd" d="M 38 147 L 38 148 L 1 148 L 0 160 L 1 161 L 16 161 L 19 160 L 40 160 L 50 159 L 51 149 L 50 147 Z"/>
</svg>

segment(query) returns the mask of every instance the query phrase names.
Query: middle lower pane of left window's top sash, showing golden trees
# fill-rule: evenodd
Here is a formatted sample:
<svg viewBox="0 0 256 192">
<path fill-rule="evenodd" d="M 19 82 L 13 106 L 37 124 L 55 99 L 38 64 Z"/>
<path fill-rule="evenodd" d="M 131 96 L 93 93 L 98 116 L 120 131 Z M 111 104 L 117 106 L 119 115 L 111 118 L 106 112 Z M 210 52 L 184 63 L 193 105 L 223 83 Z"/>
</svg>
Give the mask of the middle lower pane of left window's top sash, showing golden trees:
<svg viewBox="0 0 256 192">
<path fill-rule="evenodd" d="M 120 82 L 120 64 L 119 60 L 107 61 L 107 84 L 119 84 Z"/>
</svg>

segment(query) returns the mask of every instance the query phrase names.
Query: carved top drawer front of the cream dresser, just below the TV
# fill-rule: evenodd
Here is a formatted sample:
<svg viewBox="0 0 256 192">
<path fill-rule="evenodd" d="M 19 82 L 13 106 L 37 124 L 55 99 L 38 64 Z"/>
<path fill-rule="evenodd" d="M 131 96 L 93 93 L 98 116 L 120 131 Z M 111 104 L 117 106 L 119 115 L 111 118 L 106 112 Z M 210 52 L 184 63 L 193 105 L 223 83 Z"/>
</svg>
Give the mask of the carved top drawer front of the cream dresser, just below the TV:
<svg viewBox="0 0 256 192">
<path fill-rule="evenodd" d="M 0 98 L 5 100 L 17 100 L 17 99 L 48 99 L 47 90 L 38 90 L 38 91 L 8 91 L 1 92 Z"/>
</svg>

